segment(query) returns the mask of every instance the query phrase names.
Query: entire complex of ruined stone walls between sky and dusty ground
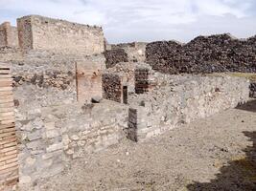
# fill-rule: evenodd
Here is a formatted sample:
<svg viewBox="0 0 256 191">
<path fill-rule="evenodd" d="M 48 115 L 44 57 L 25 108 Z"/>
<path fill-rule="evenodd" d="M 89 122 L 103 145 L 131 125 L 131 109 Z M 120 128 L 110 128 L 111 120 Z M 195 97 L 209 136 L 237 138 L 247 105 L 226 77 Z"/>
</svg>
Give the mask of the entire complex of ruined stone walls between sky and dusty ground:
<svg viewBox="0 0 256 191">
<path fill-rule="evenodd" d="M 256 97 L 256 79 L 231 72 L 256 72 L 256 36 L 110 45 L 101 27 L 38 15 L 3 23 L 0 190 Z"/>
</svg>

